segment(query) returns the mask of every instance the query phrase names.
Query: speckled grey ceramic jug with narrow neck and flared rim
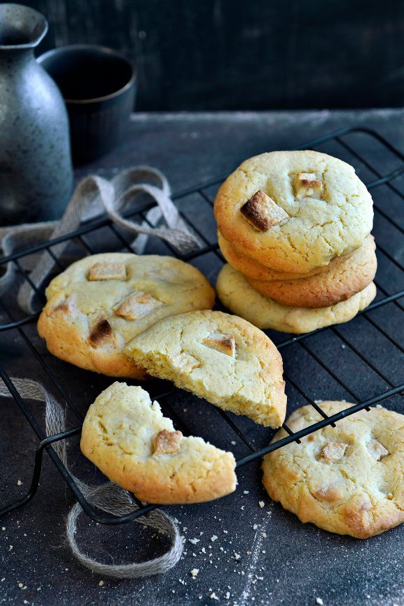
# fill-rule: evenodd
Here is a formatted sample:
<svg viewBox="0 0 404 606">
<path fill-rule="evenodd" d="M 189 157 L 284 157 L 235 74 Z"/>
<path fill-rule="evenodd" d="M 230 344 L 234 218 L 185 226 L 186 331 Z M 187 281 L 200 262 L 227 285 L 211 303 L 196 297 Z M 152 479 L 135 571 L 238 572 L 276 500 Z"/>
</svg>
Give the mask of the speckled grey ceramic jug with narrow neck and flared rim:
<svg viewBox="0 0 404 606">
<path fill-rule="evenodd" d="M 57 219 L 72 191 L 68 116 L 33 49 L 40 13 L 0 4 L 0 225 Z"/>
</svg>

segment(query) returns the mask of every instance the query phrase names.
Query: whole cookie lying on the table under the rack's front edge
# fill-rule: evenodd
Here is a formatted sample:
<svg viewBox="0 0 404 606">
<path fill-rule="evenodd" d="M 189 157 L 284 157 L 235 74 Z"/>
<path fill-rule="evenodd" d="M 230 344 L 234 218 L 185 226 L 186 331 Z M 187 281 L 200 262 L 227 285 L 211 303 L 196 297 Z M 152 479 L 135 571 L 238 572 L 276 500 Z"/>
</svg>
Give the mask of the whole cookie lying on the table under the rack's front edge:
<svg viewBox="0 0 404 606">
<path fill-rule="evenodd" d="M 353 406 L 320 402 L 331 416 Z M 323 417 L 312 406 L 290 415 L 293 431 Z M 288 434 L 281 429 L 277 442 Z M 382 407 L 362 410 L 265 456 L 268 495 L 302 522 L 368 538 L 404 522 L 404 416 Z"/>
</svg>

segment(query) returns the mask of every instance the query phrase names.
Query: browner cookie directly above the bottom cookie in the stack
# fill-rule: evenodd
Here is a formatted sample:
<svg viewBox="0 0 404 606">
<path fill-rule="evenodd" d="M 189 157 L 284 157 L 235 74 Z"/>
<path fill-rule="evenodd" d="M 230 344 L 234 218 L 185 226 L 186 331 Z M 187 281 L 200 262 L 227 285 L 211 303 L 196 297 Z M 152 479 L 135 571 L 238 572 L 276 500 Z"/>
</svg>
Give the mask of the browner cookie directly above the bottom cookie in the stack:
<svg viewBox="0 0 404 606">
<path fill-rule="evenodd" d="M 339 257 L 325 272 L 298 280 L 262 281 L 246 278 L 250 286 L 264 297 L 294 307 L 329 307 L 346 301 L 373 281 L 378 261 L 375 240 L 365 238 L 361 247 L 348 259 Z"/>
</svg>

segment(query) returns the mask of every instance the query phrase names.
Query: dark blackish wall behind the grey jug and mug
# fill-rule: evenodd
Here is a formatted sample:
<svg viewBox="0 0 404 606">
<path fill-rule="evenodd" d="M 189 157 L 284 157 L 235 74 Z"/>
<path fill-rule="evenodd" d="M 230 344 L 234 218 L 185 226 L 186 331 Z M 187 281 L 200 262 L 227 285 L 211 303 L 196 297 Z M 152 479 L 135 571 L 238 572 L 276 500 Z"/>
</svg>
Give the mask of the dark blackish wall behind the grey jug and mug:
<svg viewBox="0 0 404 606">
<path fill-rule="evenodd" d="M 401 107 L 403 0 L 25 0 L 42 49 L 93 42 L 139 70 L 141 110 Z"/>
</svg>

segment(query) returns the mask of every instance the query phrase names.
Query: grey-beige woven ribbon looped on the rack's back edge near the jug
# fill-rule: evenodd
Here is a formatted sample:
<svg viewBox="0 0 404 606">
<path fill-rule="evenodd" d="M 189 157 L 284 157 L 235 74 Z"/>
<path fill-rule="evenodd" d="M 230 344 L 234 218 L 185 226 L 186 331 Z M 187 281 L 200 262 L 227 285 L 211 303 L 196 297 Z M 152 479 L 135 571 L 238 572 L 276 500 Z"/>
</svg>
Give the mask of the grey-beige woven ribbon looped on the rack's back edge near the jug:
<svg viewBox="0 0 404 606">
<path fill-rule="evenodd" d="M 123 212 L 129 208 L 136 212 L 141 194 L 147 194 L 156 205 L 148 210 L 141 223 L 136 223 L 123 217 Z M 96 175 L 81 180 L 58 222 L 0 228 L 1 248 L 4 255 L 8 256 L 26 247 L 59 238 L 75 231 L 81 222 L 93 219 L 100 212 L 106 212 L 114 224 L 137 234 L 137 238 L 132 242 L 132 249 L 137 254 L 143 252 L 150 235 L 169 242 L 182 255 L 200 246 L 199 240 L 190 233 L 171 199 L 171 189 L 166 177 L 151 166 L 134 166 L 121 171 L 110 181 Z M 164 219 L 166 227 L 158 226 L 161 219 Z M 67 245 L 68 241 L 55 244 L 52 247 L 54 256 L 61 256 Z M 30 282 L 25 280 L 20 287 L 17 303 L 26 313 L 33 313 L 35 288 L 52 272 L 55 261 L 44 251 L 33 258 L 21 258 L 20 264 L 23 270 L 31 273 Z M 15 278 L 16 267 L 13 261 L 10 261 L 6 272 L 0 278 L 0 293 L 10 288 Z"/>
</svg>

